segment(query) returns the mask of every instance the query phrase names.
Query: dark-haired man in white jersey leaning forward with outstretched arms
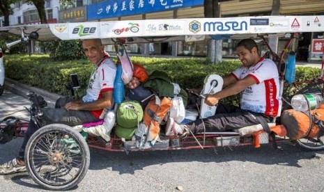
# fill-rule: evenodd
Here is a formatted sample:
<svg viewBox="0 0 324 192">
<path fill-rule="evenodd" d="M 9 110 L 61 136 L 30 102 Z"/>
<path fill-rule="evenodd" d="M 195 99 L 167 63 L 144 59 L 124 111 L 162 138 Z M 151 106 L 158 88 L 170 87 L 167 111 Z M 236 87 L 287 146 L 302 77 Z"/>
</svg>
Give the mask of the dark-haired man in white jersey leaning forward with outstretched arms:
<svg viewBox="0 0 324 192">
<path fill-rule="evenodd" d="M 240 108 L 219 104 L 215 115 L 181 126 L 190 129 L 193 134 L 226 131 L 249 125 L 270 122 L 280 114 L 279 74 L 275 63 L 259 56 L 258 46 L 252 39 L 244 39 L 236 48 L 242 66 L 224 79 L 224 89 L 213 95 L 206 95 L 205 102 L 215 106 L 220 99 L 242 93 Z M 179 133 L 178 133 L 179 134 Z"/>
</svg>

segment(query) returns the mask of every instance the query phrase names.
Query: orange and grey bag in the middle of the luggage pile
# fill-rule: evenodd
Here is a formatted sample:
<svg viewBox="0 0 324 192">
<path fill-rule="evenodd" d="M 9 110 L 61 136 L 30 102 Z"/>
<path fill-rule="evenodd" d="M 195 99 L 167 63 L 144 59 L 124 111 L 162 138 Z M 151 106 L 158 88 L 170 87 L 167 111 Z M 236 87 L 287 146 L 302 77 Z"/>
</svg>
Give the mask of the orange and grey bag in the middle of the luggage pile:
<svg viewBox="0 0 324 192">
<path fill-rule="evenodd" d="M 160 123 L 167 115 L 172 105 L 172 100 L 163 97 L 161 100 L 151 99 L 144 111 L 144 124 L 148 127 L 147 141 L 157 140 L 160 133 Z"/>
</svg>

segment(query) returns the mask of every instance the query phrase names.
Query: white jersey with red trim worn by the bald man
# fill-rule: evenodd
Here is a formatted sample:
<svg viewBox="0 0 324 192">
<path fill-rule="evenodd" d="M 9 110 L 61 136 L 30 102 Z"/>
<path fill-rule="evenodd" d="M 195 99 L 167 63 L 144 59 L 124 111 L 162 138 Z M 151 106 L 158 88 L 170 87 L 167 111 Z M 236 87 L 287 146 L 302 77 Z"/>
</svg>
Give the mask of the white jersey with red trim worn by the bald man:
<svg viewBox="0 0 324 192">
<path fill-rule="evenodd" d="M 105 56 L 97 65 L 97 68 L 91 74 L 86 95 L 82 97 L 83 102 L 93 102 L 102 98 L 102 93 L 114 90 L 114 79 L 116 76 L 116 64 L 111 61 L 109 56 Z M 91 111 L 99 118 L 101 110 Z"/>
</svg>

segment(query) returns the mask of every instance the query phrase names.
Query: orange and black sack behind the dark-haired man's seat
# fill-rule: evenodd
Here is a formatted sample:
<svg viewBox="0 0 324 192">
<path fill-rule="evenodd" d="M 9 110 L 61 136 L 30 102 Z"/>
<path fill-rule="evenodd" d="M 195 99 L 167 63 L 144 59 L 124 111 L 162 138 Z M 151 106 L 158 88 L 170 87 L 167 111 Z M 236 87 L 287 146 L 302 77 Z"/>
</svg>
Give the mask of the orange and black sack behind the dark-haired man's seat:
<svg viewBox="0 0 324 192">
<path fill-rule="evenodd" d="M 324 109 L 314 109 L 311 110 L 311 116 L 313 120 L 309 120 L 309 115 L 301 112 L 295 111 L 293 109 L 288 109 L 281 114 L 281 124 L 287 129 L 287 136 L 291 139 L 300 138 L 317 138 L 320 134 L 321 129 L 316 125 L 314 121 L 324 120 Z"/>
</svg>

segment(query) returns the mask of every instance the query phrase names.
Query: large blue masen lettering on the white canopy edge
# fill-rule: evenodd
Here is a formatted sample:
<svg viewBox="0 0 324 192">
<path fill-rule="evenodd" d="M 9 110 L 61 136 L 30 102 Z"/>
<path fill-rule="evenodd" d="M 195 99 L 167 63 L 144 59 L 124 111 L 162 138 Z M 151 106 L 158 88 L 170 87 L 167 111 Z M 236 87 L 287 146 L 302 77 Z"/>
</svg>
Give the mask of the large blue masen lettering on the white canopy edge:
<svg viewBox="0 0 324 192">
<path fill-rule="evenodd" d="M 247 22 L 205 22 L 203 31 L 247 31 Z"/>
</svg>

